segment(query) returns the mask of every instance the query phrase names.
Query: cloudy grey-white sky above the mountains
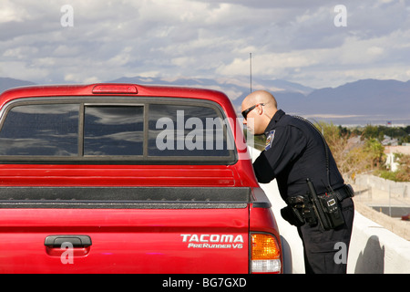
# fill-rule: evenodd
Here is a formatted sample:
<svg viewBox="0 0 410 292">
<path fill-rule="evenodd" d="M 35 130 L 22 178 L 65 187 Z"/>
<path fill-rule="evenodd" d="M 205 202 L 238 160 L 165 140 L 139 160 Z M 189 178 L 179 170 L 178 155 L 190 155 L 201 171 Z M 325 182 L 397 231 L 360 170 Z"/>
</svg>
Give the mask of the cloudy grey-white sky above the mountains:
<svg viewBox="0 0 410 292">
<path fill-rule="evenodd" d="M 335 9 L 343 5 L 346 10 Z M 410 1 L 0 0 L 0 77 L 410 79 Z"/>
</svg>

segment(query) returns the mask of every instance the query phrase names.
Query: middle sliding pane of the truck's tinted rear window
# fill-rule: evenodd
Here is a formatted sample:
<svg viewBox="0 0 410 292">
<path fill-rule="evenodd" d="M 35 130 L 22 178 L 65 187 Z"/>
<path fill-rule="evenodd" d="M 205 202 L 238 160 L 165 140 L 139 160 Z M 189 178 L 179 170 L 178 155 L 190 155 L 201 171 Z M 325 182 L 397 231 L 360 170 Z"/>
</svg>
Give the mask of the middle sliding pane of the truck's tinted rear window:
<svg viewBox="0 0 410 292">
<path fill-rule="evenodd" d="M 84 155 L 142 155 L 142 106 L 87 106 Z"/>
</svg>

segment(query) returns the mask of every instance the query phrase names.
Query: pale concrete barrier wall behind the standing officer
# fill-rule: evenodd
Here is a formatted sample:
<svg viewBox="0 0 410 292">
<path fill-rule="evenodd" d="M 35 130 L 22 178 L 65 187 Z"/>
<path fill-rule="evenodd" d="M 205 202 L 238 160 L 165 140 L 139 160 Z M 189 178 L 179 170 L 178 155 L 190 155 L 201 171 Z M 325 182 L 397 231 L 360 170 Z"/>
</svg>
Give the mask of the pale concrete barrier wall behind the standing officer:
<svg viewBox="0 0 410 292">
<path fill-rule="evenodd" d="M 251 149 L 252 160 L 260 151 Z M 276 180 L 261 183 L 272 203 L 272 212 L 282 239 L 283 272 L 303 274 L 303 248 L 297 230 L 282 219 L 285 206 Z M 355 211 L 354 230 L 347 263 L 348 274 L 410 274 L 410 242 Z"/>
</svg>

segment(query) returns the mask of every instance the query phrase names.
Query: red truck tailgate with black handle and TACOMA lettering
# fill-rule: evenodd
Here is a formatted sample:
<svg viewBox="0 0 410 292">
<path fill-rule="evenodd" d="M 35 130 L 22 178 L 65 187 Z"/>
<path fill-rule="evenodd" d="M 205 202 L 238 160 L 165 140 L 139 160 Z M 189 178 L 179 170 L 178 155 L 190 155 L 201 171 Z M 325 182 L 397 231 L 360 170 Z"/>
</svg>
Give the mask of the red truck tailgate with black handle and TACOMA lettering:
<svg viewBox="0 0 410 292">
<path fill-rule="evenodd" d="M 0 273 L 248 273 L 249 190 L 167 190 L 1 188 Z"/>
</svg>

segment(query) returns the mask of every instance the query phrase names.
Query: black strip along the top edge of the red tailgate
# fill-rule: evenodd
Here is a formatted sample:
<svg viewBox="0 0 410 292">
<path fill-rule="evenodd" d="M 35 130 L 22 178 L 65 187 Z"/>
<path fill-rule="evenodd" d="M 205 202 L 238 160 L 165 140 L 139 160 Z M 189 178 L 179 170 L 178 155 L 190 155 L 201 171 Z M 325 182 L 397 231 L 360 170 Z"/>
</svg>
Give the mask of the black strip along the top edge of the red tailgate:
<svg viewBox="0 0 410 292">
<path fill-rule="evenodd" d="M 245 208 L 249 187 L 0 187 L 0 208 Z"/>
</svg>

